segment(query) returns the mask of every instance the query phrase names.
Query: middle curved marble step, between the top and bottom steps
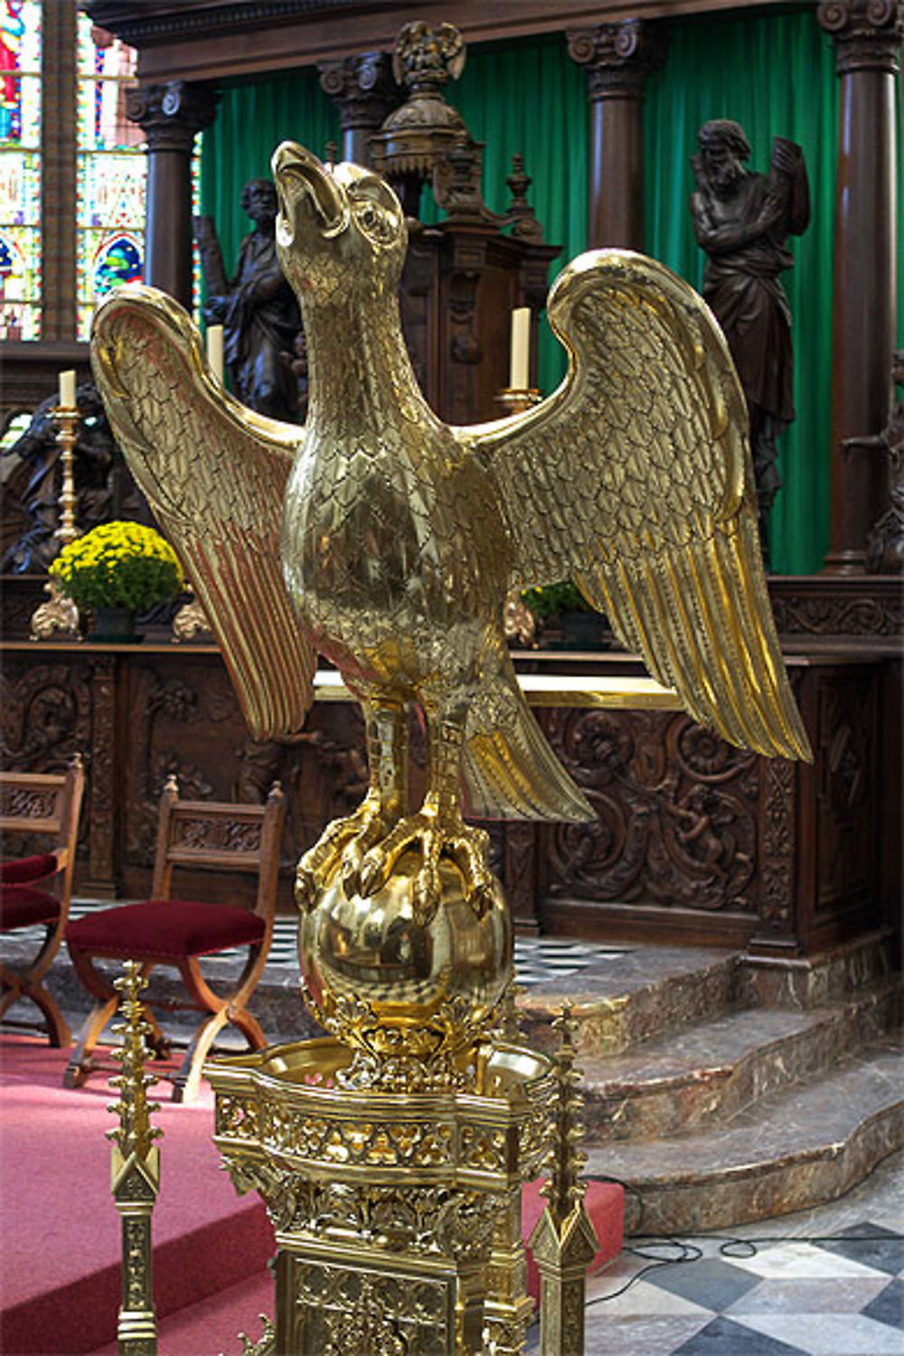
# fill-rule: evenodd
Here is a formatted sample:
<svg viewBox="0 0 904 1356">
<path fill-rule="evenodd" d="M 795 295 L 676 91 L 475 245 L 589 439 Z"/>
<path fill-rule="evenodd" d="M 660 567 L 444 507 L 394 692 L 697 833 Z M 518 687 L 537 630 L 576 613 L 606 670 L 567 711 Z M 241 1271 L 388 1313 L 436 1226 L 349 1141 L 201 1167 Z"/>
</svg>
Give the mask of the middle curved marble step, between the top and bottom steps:
<svg viewBox="0 0 904 1356">
<path fill-rule="evenodd" d="M 648 1139 L 736 1116 L 829 1069 L 900 1021 L 895 980 L 824 1008 L 744 1009 L 610 1058 L 580 1060 L 591 1143 Z"/>
</svg>

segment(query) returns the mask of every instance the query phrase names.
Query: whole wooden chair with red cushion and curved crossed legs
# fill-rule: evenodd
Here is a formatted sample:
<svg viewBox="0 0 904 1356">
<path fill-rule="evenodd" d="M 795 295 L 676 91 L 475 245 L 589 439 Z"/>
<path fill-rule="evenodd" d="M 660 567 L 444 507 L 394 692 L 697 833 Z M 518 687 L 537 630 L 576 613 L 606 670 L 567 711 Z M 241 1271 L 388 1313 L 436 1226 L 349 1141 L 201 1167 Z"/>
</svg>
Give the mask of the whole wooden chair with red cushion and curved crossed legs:
<svg viewBox="0 0 904 1356">
<path fill-rule="evenodd" d="M 146 978 L 156 965 L 173 967 L 182 975 L 187 1001 L 144 997 L 152 1028 L 150 1044 L 159 1058 L 168 1054 L 155 1008 L 195 1009 L 203 1013 L 179 1071 L 172 1075 L 172 1100 L 198 1096 L 201 1069 L 218 1032 L 232 1022 L 252 1050 L 266 1044 L 264 1033 L 248 1012 L 272 941 L 279 872 L 279 845 L 286 803 L 274 782 L 266 805 L 234 805 L 207 800 L 180 800 L 169 777 L 160 800 L 152 898 L 141 903 L 99 909 L 69 923 L 66 946 L 94 1010 L 79 1032 L 76 1048 L 64 1074 L 65 1088 L 80 1086 L 95 1066 L 92 1051 L 114 1016 L 119 997 L 112 975 L 96 967 L 96 959 L 136 960 Z M 253 910 L 236 902 L 195 903 L 172 898 L 175 868 L 217 868 L 253 872 L 258 892 Z M 244 968 L 229 993 L 214 993 L 201 972 L 201 956 L 247 946 Z M 148 994 L 150 994 L 148 997 Z"/>
</svg>

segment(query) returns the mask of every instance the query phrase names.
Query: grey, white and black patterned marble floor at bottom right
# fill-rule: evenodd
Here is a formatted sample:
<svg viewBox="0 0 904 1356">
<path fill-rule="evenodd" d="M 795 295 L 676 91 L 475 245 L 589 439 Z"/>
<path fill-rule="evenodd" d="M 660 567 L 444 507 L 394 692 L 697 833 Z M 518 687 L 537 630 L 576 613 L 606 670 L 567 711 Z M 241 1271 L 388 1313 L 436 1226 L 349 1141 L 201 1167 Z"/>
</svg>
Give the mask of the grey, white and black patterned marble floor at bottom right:
<svg viewBox="0 0 904 1356">
<path fill-rule="evenodd" d="M 591 1277 L 585 1356 L 904 1356 L 904 1153 L 817 1210 L 626 1239 Z M 529 1356 L 539 1352 L 531 1330 Z"/>
</svg>

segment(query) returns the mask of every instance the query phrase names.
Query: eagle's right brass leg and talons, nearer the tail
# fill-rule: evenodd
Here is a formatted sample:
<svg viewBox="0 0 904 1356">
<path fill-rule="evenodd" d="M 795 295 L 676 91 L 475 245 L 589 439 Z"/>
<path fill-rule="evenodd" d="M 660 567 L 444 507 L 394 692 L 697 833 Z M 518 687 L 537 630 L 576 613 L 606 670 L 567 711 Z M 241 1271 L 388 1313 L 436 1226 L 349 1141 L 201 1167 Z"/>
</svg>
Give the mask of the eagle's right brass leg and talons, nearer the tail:
<svg viewBox="0 0 904 1356">
<path fill-rule="evenodd" d="M 422 865 L 415 876 L 415 918 L 428 922 L 440 899 L 439 860 L 451 857 L 462 873 L 465 896 L 478 913 L 489 900 L 493 877 L 487 860 L 489 837 L 466 824 L 461 815 L 461 753 L 465 719 L 427 711 L 430 749 L 427 793 L 420 810 L 400 819 L 386 838 L 371 849 L 361 868 L 362 894 L 373 894 L 392 875 L 396 862 L 412 846 L 420 846 Z"/>
</svg>

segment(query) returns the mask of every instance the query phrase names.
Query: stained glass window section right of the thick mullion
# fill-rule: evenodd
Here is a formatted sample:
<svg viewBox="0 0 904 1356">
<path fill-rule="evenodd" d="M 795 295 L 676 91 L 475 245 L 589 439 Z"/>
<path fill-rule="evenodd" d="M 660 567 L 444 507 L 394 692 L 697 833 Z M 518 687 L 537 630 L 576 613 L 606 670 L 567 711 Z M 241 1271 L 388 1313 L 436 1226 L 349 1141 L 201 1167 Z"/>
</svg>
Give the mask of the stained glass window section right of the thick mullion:
<svg viewBox="0 0 904 1356">
<path fill-rule="evenodd" d="M 144 271 L 144 133 L 126 117 L 136 52 L 79 15 L 76 336 L 87 339 L 99 301 Z"/>
</svg>

